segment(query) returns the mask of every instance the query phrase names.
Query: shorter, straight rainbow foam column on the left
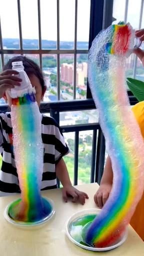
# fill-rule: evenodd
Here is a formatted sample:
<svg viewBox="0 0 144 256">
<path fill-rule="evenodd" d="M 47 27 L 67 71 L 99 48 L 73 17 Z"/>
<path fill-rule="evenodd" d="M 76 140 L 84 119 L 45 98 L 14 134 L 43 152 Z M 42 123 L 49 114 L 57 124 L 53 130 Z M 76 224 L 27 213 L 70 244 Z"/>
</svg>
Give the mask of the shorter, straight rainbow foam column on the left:
<svg viewBox="0 0 144 256">
<path fill-rule="evenodd" d="M 35 94 L 27 93 L 12 99 L 11 122 L 21 199 L 11 204 L 9 216 L 17 221 L 31 223 L 45 218 L 51 211 L 50 204 L 40 195 L 43 144 Z"/>
</svg>

